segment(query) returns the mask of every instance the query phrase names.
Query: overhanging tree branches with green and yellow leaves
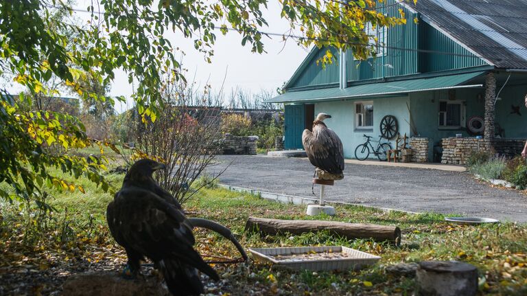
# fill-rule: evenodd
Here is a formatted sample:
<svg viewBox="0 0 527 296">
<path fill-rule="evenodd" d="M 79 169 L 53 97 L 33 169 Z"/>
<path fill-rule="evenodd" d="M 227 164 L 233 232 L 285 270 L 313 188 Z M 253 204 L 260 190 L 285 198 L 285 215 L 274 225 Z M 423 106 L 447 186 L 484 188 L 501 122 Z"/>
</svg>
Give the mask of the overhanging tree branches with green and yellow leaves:
<svg viewBox="0 0 527 296">
<path fill-rule="evenodd" d="M 363 30 L 366 23 L 405 23 L 402 10 L 400 18 L 377 11 L 377 4 L 384 5 L 383 0 L 280 1 L 281 16 L 303 34 L 298 43 L 351 48 L 360 58 L 375 52 L 374 46 L 368 45 L 371 36 Z M 1 1 L 0 75 L 12 75 L 14 81 L 30 90 L 31 96 L 23 96 L 19 102 L 5 94 L 1 97 L 0 181 L 7 181 L 17 195 L 25 194 L 27 198 L 38 194 L 45 183 L 74 190 L 75 185 L 49 174 L 47 166 L 55 166 L 76 177 L 84 174 L 108 188 L 99 174 L 104 165 L 54 155 L 46 149 L 91 144 L 78 119 L 60 113 L 25 111 L 22 104 L 31 105 L 32 96 L 51 91 L 46 82 L 52 77 L 86 99 L 110 100 L 82 84 L 82 76 L 87 73 L 104 85 L 113 80 L 115 70 L 123 69 L 130 82 L 139 82 L 134 100 L 143 121 L 155 121 L 163 108 L 162 77 L 173 75 L 185 81 L 175 58 L 177 45 L 172 45 L 165 32 L 177 31 L 193 38 L 194 47 L 208 61 L 213 56 L 218 29 L 222 34 L 237 32 L 242 36 L 242 45 L 261 53 L 265 34 L 259 28 L 267 25 L 261 12 L 266 5 L 267 0 L 100 0 L 87 8 L 91 12 L 89 24 L 79 25 L 70 17 L 52 17 L 57 13 L 73 14 L 71 4 L 62 0 Z M 323 63 L 332 58 L 328 51 Z M 4 191 L 0 195 L 9 196 Z"/>
</svg>

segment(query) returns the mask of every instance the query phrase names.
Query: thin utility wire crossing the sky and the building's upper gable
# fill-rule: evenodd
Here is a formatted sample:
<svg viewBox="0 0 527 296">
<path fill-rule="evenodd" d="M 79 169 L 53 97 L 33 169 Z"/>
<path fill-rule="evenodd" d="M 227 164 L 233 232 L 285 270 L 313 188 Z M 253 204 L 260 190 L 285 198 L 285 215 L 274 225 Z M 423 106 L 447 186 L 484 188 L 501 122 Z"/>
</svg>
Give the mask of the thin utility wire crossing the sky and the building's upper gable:
<svg viewBox="0 0 527 296">
<path fill-rule="evenodd" d="M 54 6 L 54 5 L 47 5 L 47 6 L 50 7 L 50 8 L 62 8 L 62 7 Z M 84 13 L 89 13 L 89 14 L 91 14 L 91 13 L 94 13 L 94 14 L 102 14 L 102 13 L 104 13 L 104 12 L 100 12 L 100 11 L 89 12 L 87 10 L 80 10 L 80 9 L 77 9 L 77 8 L 70 8 L 70 9 L 72 11 L 74 11 L 74 12 L 84 12 Z M 214 30 L 218 31 L 218 30 L 222 30 L 222 29 L 220 27 L 214 27 Z M 227 27 L 226 30 L 233 31 L 233 32 L 238 32 L 238 30 L 236 30 L 235 28 L 232 28 L 232 27 Z M 256 32 L 259 33 L 259 34 L 262 34 L 262 35 L 266 35 L 266 36 L 279 36 L 279 37 L 283 37 L 283 38 L 294 38 L 294 39 L 298 39 L 298 40 L 301 40 L 301 41 L 302 40 L 329 41 L 328 39 L 308 38 L 308 37 L 305 37 L 305 36 L 297 36 L 297 35 L 293 35 L 293 34 L 281 34 L 281 33 L 275 33 L 275 32 L 264 32 L 264 31 L 259 31 L 259 30 L 257 30 Z M 477 55 L 477 54 L 458 54 L 456 52 L 440 52 L 438 50 L 417 49 L 417 48 L 398 47 L 398 46 L 390 46 L 390 45 L 380 45 L 380 44 L 377 44 L 377 43 L 346 42 L 345 44 L 347 44 L 347 45 L 362 45 L 362 46 L 383 47 L 383 48 L 386 48 L 386 49 L 401 50 L 401 51 L 406 51 L 406 52 L 422 52 L 424 54 L 440 54 L 440 55 L 444 55 L 444 56 L 462 56 L 462 57 L 465 57 L 465 58 L 483 58 L 482 56 Z"/>
</svg>

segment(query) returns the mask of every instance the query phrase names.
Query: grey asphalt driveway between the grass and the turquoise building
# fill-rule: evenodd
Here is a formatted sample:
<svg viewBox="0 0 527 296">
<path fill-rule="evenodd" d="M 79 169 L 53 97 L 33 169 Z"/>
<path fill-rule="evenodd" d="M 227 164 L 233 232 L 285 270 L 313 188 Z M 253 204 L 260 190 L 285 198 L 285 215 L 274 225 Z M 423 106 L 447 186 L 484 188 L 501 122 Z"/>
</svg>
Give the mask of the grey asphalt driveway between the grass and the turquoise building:
<svg viewBox="0 0 527 296">
<path fill-rule="evenodd" d="M 218 161 L 209 172 L 228 166 L 220 183 L 314 198 L 314 167 L 307 159 L 222 155 Z M 344 179 L 326 188 L 327 201 L 527 222 L 526 195 L 490 187 L 467 172 L 347 163 Z"/>
</svg>

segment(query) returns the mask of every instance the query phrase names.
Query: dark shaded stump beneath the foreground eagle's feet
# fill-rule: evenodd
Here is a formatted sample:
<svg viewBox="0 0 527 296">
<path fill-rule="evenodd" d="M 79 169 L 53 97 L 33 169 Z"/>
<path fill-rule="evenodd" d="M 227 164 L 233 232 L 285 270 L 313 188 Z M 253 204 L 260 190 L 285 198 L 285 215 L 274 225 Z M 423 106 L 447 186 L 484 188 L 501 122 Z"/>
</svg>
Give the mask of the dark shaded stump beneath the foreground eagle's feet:
<svg viewBox="0 0 527 296">
<path fill-rule="evenodd" d="M 117 271 L 91 271 L 71 275 L 62 285 L 64 296 L 169 296 L 156 275 L 139 275 L 125 280 Z"/>
</svg>

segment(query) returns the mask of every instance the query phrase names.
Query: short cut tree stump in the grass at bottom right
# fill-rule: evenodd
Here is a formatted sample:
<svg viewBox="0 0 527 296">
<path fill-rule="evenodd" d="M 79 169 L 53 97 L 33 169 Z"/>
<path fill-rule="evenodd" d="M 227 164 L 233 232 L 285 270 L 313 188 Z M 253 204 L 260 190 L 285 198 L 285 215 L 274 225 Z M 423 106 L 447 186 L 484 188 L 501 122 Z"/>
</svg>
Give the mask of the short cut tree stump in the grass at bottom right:
<svg viewBox="0 0 527 296">
<path fill-rule="evenodd" d="M 419 296 L 472 296 L 478 292 L 478 269 L 458 261 L 423 261 L 417 269 Z"/>
</svg>

